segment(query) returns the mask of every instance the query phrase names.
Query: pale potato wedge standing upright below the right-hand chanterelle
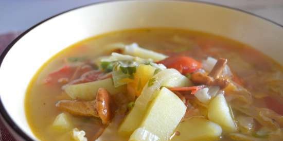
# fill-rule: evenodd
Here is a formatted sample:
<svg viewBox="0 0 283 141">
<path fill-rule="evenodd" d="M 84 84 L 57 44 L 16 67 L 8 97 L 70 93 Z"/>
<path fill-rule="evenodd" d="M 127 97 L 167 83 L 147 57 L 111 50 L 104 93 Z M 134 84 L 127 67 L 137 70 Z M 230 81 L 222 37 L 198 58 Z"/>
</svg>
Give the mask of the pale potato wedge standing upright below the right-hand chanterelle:
<svg viewBox="0 0 283 141">
<path fill-rule="evenodd" d="M 217 95 L 208 105 L 208 119 L 219 124 L 225 132 L 237 131 L 231 111 L 223 94 Z"/>
</svg>

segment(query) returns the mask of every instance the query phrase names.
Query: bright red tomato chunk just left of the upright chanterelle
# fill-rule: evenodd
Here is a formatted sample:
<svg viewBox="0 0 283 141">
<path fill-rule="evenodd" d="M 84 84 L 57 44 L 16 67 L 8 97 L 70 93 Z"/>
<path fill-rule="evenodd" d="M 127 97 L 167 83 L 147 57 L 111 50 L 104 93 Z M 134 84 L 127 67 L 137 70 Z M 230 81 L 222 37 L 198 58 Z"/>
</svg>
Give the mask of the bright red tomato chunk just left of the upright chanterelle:
<svg viewBox="0 0 283 141">
<path fill-rule="evenodd" d="M 186 56 L 169 57 L 157 63 L 164 64 L 167 68 L 175 68 L 184 75 L 193 73 L 202 67 L 200 62 Z"/>
</svg>

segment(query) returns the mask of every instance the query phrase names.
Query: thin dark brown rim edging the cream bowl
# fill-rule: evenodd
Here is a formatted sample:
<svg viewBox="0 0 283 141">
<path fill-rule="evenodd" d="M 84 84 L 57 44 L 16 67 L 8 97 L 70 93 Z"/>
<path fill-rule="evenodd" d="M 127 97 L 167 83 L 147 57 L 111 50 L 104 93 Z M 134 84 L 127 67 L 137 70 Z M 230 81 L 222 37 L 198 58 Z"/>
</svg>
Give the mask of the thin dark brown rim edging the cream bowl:
<svg viewBox="0 0 283 141">
<path fill-rule="evenodd" d="M 100 1 L 100 2 L 94 2 L 94 3 L 91 3 L 91 4 L 86 4 L 86 5 L 82 5 L 82 6 L 78 6 L 78 7 L 75 7 L 75 8 L 72 8 L 72 9 L 68 9 L 68 10 L 65 10 L 63 12 L 60 12 L 58 14 L 55 14 L 53 16 L 50 16 L 48 17 L 47 19 L 31 26 L 30 28 L 28 28 L 27 30 L 25 30 L 23 33 L 21 33 L 18 37 L 16 37 L 2 52 L 2 54 L 0 55 L 0 68 L 1 68 L 1 64 L 5 58 L 5 56 L 7 55 L 7 53 L 9 52 L 9 50 L 13 47 L 13 45 L 19 41 L 22 37 L 25 36 L 25 34 L 27 34 L 29 31 L 31 31 L 33 28 L 36 28 L 37 26 L 41 25 L 42 23 L 48 21 L 48 20 L 51 20 L 53 19 L 54 17 L 56 16 L 59 16 L 61 14 L 64 14 L 66 12 L 69 12 L 69 11 L 73 11 L 73 10 L 77 10 L 79 8 L 84 8 L 84 7 L 88 7 L 88 6 L 93 6 L 93 5 L 97 5 L 97 4 L 103 4 L 103 3 L 115 3 L 115 2 L 127 2 L 127 1 L 143 1 L 143 0 L 107 0 L 107 1 Z M 248 15 L 252 15 L 252 16 L 256 16 L 256 17 L 259 17 L 260 19 L 264 20 L 264 21 L 268 21 L 276 26 L 279 26 L 281 28 L 283 28 L 283 25 L 277 23 L 277 22 L 274 22 L 270 19 L 267 19 L 266 17 L 263 17 L 263 16 L 260 16 L 260 15 L 257 15 L 257 14 L 254 14 L 252 12 L 248 12 L 248 11 L 245 11 L 245 10 L 242 10 L 242 9 L 239 9 L 239 8 L 234 8 L 234 7 L 231 7 L 231 6 L 226 6 L 226 5 L 221 5 L 221 4 L 216 4 L 216 3 L 212 3 L 212 2 L 203 2 L 203 1 L 198 1 L 198 0 L 154 0 L 154 1 L 179 1 L 179 2 L 189 2 L 189 3 L 199 3 L 199 4 L 204 4 L 204 5 L 213 5 L 213 6 L 217 6 L 217 7 L 221 7 L 221 8 L 227 8 L 229 10 L 235 10 L 235 11 L 239 11 L 239 12 L 242 12 L 242 13 L 245 13 L 245 14 L 248 14 Z M 6 124 L 8 124 L 8 126 L 17 134 L 19 135 L 21 138 L 25 139 L 25 140 L 28 140 L 28 141 L 34 141 L 30 136 L 28 136 L 19 126 L 17 126 L 15 124 L 15 122 L 12 120 L 12 118 L 9 116 L 7 110 L 5 109 L 4 105 L 3 105 L 3 102 L 2 102 L 2 99 L 1 99 L 1 96 L 0 96 L 0 115 L 3 117 L 3 122 L 6 122 Z M 12 135 L 13 136 L 13 135 Z M 14 136 L 13 136 L 14 137 Z"/>
</svg>

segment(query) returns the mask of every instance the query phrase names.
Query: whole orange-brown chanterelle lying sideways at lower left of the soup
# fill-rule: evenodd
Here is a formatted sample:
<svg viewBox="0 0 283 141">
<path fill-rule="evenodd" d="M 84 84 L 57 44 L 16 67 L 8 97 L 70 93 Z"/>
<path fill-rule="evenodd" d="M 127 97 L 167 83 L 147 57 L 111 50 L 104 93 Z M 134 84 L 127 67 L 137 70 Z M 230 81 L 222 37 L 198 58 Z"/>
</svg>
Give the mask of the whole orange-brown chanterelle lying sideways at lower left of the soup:
<svg viewBox="0 0 283 141">
<path fill-rule="evenodd" d="M 99 117 L 102 124 L 107 124 L 111 119 L 110 104 L 111 97 L 108 91 L 104 88 L 99 88 L 95 100 L 61 100 L 56 103 L 56 107 L 73 115 Z"/>
</svg>

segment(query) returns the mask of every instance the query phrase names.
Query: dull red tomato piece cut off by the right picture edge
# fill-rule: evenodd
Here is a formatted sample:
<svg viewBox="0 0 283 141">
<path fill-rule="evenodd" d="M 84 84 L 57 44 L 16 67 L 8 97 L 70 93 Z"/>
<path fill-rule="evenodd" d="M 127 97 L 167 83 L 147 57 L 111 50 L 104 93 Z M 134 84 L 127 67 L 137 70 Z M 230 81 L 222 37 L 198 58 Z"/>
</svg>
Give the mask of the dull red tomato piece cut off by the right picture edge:
<svg viewBox="0 0 283 141">
<path fill-rule="evenodd" d="M 279 100 L 268 96 L 264 98 L 264 101 L 269 109 L 273 110 L 277 114 L 283 115 L 283 103 L 280 103 Z"/>
</svg>

